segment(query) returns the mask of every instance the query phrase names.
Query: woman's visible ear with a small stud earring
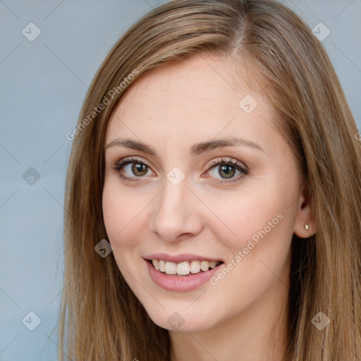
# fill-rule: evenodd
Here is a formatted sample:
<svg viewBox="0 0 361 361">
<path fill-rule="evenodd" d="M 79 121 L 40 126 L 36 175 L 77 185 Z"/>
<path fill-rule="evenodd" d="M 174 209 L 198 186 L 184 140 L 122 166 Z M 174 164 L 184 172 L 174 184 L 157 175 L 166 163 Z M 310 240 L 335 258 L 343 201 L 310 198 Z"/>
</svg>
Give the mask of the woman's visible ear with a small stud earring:
<svg viewBox="0 0 361 361">
<path fill-rule="evenodd" d="M 308 229 L 305 228 L 306 224 Z M 298 198 L 293 232 L 300 238 L 309 238 L 316 231 L 317 224 L 312 212 L 310 192 L 304 190 Z"/>
</svg>

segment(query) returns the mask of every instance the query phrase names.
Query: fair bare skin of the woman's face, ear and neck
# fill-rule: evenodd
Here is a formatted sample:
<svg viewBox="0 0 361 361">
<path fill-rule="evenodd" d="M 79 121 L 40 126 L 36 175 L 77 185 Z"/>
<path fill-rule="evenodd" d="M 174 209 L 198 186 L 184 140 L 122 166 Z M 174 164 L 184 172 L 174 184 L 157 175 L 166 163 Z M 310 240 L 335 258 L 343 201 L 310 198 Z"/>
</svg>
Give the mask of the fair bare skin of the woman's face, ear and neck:
<svg viewBox="0 0 361 361">
<path fill-rule="evenodd" d="M 310 204 L 290 147 L 276 131 L 274 111 L 262 92 L 235 74 L 232 59 L 211 56 L 152 69 L 131 85 L 106 128 L 105 145 L 127 137 L 157 152 L 105 147 L 104 224 L 128 285 L 154 323 L 169 329 L 172 361 L 281 360 L 291 239 L 293 233 L 314 233 Z M 246 94 L 258 103 L 250 114 L 238 105 Z M 236 145 L 190 155 L 193 144 L 225 137 L 242 137 L 262 150 Z M 145 175 L 132 173 L 133 164 L 112 168 L 130 156 L 149 165 Z M 221 157 L 246 165 L 248 173 L 222 178 L 221 166 L 209 167 Z M 179 185 L 166 178 L 174 166 L 185 175 Z M 226 264 L 280 213 L 283 219 L 216 285 L 174 292 L 149 277 L 142 257 L 155 252 L 204 255 Z M 167 322 L 173 312 L 184 319 L 178 330 Z"/>
</svg>

